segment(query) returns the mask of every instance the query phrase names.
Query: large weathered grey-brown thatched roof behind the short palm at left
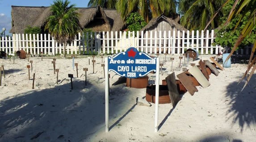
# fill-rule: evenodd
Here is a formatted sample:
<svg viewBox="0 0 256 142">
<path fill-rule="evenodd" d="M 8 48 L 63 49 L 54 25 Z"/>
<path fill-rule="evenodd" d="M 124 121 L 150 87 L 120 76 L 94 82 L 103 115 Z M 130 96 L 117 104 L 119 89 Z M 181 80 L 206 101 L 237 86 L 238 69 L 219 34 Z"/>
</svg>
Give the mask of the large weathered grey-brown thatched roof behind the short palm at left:
<svg viewBox="0 0 256 142">
<path fill-rule="evenodd" d="M 92 28 L 95 32 L 120 31 L 125 23 L 114 9 L 101 7 L 78 8 L 81 28 Z M 12 33 L 24 33 L 27 26 L 44 28 L 50 7 L 12 6 Z"/>
</svg>

